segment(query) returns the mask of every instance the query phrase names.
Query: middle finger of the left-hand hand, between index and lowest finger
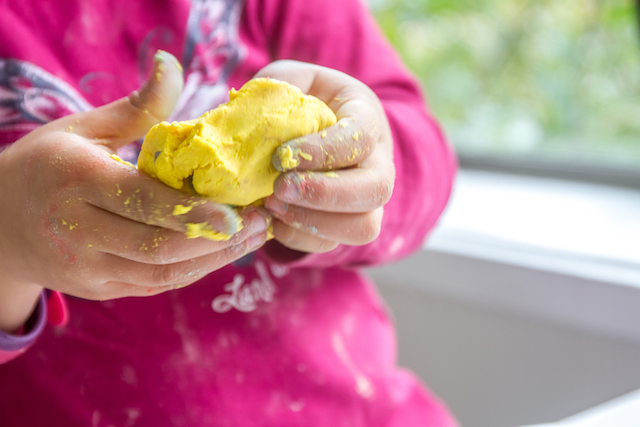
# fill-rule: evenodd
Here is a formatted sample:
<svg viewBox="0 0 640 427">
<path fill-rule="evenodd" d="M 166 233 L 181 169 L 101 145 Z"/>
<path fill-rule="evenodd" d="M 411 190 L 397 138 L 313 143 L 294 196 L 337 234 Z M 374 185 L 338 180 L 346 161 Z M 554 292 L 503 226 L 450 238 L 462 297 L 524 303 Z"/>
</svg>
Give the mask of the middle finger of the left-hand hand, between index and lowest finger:
<svg viewBox="0 0 640 427">
<path fill-rule="evenodd" d="M 262 208 L 248 207 L 240 212 L 245 226 L 227 241 L 188 239 L 184 233 L 141 224 L 89 206 L 95 221 L 84 238 L 98 252 L 146 264 L 173 264 L 219 252 L 238 245 L 268 229 L 270 220 Z M 83 232 L 79 226 L 78 232 Z"/>
</svg>

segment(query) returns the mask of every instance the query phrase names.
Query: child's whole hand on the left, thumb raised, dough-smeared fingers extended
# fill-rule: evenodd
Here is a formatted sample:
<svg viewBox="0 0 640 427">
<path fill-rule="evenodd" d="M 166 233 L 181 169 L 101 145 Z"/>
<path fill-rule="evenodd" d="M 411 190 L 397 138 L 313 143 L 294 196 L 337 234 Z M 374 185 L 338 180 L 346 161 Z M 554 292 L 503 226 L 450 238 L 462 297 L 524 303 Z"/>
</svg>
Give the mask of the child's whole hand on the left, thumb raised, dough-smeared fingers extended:
<svg viewBox="0 0 640 427">
<path fill-rule="evenodd" d="M 44 125 L 0 154 L 0 313 L 8 294 L 21 301 L 41 287 L 92 300 L 154 295 L 264 243 L 270 219 L 262 208 L 237 212 L 191 197 L 109 157 L 177 102 L 177 60 L 156 58 L 140 91 Z M 192 209 L 174 215 L 176 205 Z M 203 222 L 233 236 L 187 239 L 186 224 Z"/>
</svg>

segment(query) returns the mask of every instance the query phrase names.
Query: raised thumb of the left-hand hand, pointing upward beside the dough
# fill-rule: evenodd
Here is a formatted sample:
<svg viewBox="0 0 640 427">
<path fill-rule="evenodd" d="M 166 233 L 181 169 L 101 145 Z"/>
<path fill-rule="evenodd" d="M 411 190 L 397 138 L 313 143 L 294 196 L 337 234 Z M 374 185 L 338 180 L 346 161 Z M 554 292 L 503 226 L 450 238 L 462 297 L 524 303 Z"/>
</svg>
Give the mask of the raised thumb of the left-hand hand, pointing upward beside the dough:
<svg viewBox="0 0 640 427">
<path fill-rule="evenodd" d="M 129 96 L 91 111 L 57 120 L 62 130 L 95 140 L 112 150 L 142 138 L 151 127 L 169 117 L 182 92 L 182 67 L 159 50 L 147 81 Z"/>
</svg>

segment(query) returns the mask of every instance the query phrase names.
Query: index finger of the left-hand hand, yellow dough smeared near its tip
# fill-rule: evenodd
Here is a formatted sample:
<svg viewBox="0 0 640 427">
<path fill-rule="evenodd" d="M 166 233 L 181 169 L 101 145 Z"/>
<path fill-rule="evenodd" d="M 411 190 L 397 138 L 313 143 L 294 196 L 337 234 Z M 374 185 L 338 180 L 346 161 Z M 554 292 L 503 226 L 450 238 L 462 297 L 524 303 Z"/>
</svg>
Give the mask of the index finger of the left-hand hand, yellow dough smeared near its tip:
<svg viewBox="0 0 640 427">
<path fill-rule="evenodd" d="M 228 240 L 241 230 L 243 219 L 234 209 L 174 190 L 119 162 L 111 163 L 88 172 L 81 187 L 87 203 L 136 222 L 187 232 L 191 237 Z"/>
</svg>

